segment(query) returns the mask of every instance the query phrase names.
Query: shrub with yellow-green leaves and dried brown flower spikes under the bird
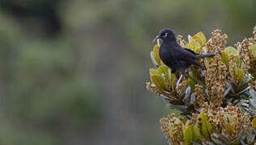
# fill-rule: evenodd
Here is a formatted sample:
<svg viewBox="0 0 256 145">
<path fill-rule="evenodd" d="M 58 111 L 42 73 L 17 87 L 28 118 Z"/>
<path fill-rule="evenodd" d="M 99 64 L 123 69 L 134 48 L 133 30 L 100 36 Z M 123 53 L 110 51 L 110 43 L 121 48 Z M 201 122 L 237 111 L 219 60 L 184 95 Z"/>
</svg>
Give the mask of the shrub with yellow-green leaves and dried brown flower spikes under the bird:
<svg viewBox="0 0 256 145">
<path fill-rule="evenodd" d="M 253 144 L 256 132 L 256 26 L 254 36 L 226 47 L 227 35 L 220 30 L 206 39 L 202 32 L 177 36 L 184 48 L 203 54 L 221 51 L 212 58 L 201 59 L 204 70 L 187 69 L 195 80 L 184 77 L 175 89 L 178 73 L 172 74 L 160 60 L 160 43 L 151 52 L 156 68 L 150 68 L 147 89 L 164 97 L 169 107 L 183 116 L 169 114 L 160 119 L 161 130 L 169 144 Z"/>
</svg>

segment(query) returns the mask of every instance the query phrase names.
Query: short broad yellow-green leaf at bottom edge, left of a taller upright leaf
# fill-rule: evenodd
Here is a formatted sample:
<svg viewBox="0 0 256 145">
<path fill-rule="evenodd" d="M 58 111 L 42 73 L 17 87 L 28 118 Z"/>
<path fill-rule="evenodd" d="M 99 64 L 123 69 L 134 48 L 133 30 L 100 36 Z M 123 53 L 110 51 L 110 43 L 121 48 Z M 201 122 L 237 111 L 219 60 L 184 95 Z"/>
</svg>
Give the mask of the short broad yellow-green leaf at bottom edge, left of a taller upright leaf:
<svg viewBox="0 0 256 145">
<path fill-rule="evenodd" d="M 193 144 L 193 142 L 199 142 L 200 140 L 202 140 L 198 127 L 194 127 L 193 125 L 188 126 L 186 128 L 184 138 L 187 145 L 190 145 L 190 144 Z"/>
</svg>

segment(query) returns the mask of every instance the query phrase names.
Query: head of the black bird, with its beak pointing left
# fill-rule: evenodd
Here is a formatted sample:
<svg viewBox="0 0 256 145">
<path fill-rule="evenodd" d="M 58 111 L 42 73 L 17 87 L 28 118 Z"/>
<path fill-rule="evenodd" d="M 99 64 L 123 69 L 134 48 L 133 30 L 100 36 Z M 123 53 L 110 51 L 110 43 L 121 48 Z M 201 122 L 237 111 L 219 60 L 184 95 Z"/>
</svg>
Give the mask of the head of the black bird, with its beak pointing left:
<svg viewBox="0 0 256 145">
<path fill-rule="evenodd" d="M 176 35 L 171 29 L 164 28 L 159 31 L 159 34 L 156 35 L 155 39 L 153 39 L 153 42 L 155 42 L 156 39 L 162 39 L 163 41 L 176 41 Z"/>
</svg>

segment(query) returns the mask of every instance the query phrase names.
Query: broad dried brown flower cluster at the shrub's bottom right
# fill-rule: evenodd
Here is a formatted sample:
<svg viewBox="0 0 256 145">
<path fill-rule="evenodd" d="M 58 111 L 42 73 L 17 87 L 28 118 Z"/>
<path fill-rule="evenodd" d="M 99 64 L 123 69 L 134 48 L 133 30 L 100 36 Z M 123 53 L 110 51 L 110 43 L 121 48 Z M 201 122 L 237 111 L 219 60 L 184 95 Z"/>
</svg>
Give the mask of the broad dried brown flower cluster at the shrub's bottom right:
<svg viewBox="0 0 256 145">
<path fill-rule="evenodd" d="M 201 113 L 204 112 L 207 121 L 211 123 L 213 132 L 224 134 L 230 140 L 237 139 L 241 130 L 250 131 L 249 114 L 242 114 L 241 110 L 236 106 L 227 106 L 225 108 L 215 106 L 204 106 Z M 195 124 L 198 114 L 193 114 L 190 122 Z"/>
</svg>

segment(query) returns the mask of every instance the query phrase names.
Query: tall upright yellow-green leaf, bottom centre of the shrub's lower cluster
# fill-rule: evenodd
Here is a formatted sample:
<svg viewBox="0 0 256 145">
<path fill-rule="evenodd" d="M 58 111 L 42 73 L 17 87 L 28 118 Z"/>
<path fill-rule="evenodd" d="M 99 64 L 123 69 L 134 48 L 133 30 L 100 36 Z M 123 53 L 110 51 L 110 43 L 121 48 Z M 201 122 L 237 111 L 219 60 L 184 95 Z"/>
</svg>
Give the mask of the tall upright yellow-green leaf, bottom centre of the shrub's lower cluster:
<svg viewBox="0 0 256 145">
<path fill-rule="evenodd" d="M 201 132 L 203 133 L 203 136 L 208 140 L 210 139 L 210 136 L 212 134 L 212 130 L 211 130 L 211 124 L 210 122 L 208 122 L 207 117 L 204 115 L 204 113 L 201 113 L 198 115 L 198 123 L 197 125 L 201 125 L 200 129 L 202 130 Z"/>
</svg>

